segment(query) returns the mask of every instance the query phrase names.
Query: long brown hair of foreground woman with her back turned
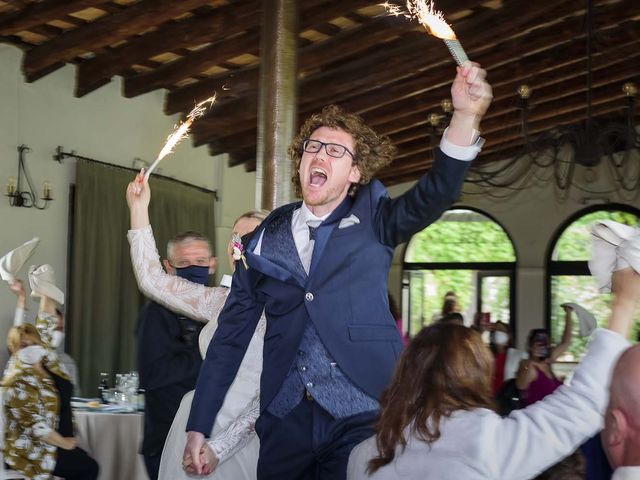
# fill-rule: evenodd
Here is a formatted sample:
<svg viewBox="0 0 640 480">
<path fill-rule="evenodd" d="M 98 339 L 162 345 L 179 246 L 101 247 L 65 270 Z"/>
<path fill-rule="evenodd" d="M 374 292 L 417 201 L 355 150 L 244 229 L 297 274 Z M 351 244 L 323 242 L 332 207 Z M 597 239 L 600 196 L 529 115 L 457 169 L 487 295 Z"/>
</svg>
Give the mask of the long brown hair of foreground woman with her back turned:
<svg viewBox="0 0 640 480">
<path fill-rule="evenodd" d="M 404 429 L 431 444 L 440 438 L 440 421 L 458 410 L 494 409 L 493 357 L 480 334 L 462 325 L 436 323 L 423 328 L 400 356 L 391 384 L 382 394 L 376 425 L 378 456 L 372 474 L 390 463 Z"/>
</svg>

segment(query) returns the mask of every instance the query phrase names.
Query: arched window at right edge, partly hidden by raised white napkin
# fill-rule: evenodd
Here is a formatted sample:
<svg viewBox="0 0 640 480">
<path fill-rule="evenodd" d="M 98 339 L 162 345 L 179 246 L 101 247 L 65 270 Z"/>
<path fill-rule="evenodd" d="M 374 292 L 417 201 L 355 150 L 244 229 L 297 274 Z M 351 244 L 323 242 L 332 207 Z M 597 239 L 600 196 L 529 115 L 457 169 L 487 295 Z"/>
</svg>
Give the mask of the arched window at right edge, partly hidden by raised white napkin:
<svg viewBox="0 0 640 480">
<path fill-rule="evenodd" d="M 594 206 L 571 216 L 556 232 L 547 254 L 547 328 L 552 342 L 557 344 L 564 331 L 564 311 L 561 305 L 574 302 L 591 311 L 600 325 L 609 316 L 609 295 L 600 294 L 589 272 L 591 258 L 591 225 L 598 220 L 614 220 L 638 226 L 640 211 L 620 204 Z M 633 338 L 637 338 L 638 320 Z M 584 354 L 587 338 L 579 338 L 577 319 L 571 347 L 560 361 L 578 361 Z"/>
</svg>

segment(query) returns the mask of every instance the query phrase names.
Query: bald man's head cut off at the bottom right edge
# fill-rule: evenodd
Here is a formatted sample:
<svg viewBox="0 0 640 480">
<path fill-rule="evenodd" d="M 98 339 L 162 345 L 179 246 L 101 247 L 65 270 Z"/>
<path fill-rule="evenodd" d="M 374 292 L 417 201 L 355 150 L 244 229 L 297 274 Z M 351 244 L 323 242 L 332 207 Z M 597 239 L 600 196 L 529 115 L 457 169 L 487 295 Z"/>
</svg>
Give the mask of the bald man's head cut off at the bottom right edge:
<svg viewBox="0 0 640 480">
<path fill-rule="evenodd" d="M 629 308 L 630 306 L 627 306 Z M 640 345 L 618 360 L 611 380 L 602 444 L 614 466 L 613 480 L 640 478 Z"/>
</svg>

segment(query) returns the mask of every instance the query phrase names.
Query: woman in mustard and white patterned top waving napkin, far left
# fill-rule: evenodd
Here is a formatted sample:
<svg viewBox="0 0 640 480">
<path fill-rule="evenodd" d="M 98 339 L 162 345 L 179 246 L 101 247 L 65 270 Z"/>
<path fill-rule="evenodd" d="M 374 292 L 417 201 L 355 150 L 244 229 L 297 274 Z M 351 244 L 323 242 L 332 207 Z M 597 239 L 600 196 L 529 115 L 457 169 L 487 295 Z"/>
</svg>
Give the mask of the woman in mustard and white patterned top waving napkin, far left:
<svg viewBox="0 0 640 480">
<path fill-rule="evenodd" d="M 98 464 L 77 446 L 71 412 L 73 386 L 61 370 L 48 343 L 55 324 L 56 301 L 62 292 L 53 284 L 53 269 L 43 265 L 30 273 L 32 290 L 41 297 L 37 323 L 9 331 L 7 344 L 14 361 L 2 380 L 4 388 L 5 462 L 29 478 L 57 476 L 68 480 L 95 480 Z M 48 295 L 54 295 L 56 301 Z"/>
</svg>

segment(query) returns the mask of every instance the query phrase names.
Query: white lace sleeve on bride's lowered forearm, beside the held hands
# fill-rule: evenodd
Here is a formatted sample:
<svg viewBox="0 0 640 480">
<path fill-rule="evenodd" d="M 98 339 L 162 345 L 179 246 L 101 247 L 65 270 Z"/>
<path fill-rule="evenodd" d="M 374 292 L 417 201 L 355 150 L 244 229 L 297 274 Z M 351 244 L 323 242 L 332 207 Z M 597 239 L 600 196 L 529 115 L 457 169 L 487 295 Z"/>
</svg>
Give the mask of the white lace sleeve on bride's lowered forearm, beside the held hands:
<svg viewBox="0 0 640 480">
<path fill-rule="evenodd" d="M 255 435 L 255 424 L 260 415 L 260 394 L 256 392 L 251 402 L 238 418 L 207 443 L 213 449 L 220 463 L 232 457 Z"/>
</svg>

